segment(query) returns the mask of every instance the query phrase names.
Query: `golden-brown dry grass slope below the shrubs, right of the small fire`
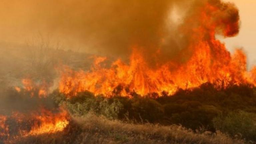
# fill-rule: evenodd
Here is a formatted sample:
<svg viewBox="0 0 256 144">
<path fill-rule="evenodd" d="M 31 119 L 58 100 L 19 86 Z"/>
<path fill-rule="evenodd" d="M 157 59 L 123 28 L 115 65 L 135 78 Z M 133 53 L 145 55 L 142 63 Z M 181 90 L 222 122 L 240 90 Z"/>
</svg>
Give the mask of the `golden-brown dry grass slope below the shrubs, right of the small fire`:
<svg viewBox="0 0 256 144">
<path fill-rule="evenodd" d="M 217 132 L 197 132 L 181 126 L 160 126 L 153 124 L 129 124 L 117 120 L 107 120 L 88 114 L 84 118 L 76 118 L 87 132 L 100 135 L 100 143 L 174 143 L 174 144 L 234 144 L 244 143 Z M 86 137 L 83 140 L 86 142 Z"/>
</svg>

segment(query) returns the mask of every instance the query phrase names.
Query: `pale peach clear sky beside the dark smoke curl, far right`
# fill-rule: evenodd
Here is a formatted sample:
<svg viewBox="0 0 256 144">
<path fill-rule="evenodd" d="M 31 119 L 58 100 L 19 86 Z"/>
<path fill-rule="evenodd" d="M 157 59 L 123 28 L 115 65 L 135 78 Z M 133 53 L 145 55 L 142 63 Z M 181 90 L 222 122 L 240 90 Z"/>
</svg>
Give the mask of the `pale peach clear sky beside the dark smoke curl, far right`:
<svg viewBox="0 0 256 144">
<path fill-rule="evenodd" d="M 242 47 L 248 56 L 248 66 L 256 65 L 256 0 L 224 0 L 234 2 L 239 9 L 241 19 L 240 33 L 236 37 L 226 38 L 223 41 L 233 52 Z"/>
</svg>

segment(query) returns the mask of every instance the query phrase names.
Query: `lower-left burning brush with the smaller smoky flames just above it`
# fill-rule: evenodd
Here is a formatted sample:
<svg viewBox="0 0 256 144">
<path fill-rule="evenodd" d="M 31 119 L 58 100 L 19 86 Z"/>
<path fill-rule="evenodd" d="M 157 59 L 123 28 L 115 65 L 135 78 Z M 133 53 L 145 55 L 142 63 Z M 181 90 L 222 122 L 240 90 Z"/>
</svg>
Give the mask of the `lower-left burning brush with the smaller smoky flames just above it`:
<svg viewBox="0 0 256 144">
<path fill-rule="evenodd" d="M 64 107 L 52 106 L 53 100 L 48 98 L 49 86 L 44 81 L 31 79 L 23 79 L 22 84 L 22 87 L 15 86 L 12 90 L 15 97 L 8 96 L 20 101 L 21 106 L 13 106 L 7 112 L 9 114 L 0 115 L 0 141 L 16 143 L 26 137 L 62 132 L 68 126 L 70 116 Z M 22 103 L 29 106 L 25 108 Z"/>
</svg>

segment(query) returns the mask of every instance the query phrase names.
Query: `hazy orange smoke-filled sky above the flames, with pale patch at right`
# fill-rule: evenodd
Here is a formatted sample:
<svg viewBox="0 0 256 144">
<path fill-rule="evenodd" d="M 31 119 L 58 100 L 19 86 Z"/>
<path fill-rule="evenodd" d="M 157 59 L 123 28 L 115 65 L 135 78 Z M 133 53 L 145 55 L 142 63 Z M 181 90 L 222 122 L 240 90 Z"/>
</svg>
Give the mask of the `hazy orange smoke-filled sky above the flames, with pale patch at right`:
<svg viewBox="0 0 256 144">
<path fill-rule="evenodd" d="M 42 34 L 66 49 L 120 56 L 137 44 L 149 53 L 151 47 L 161 47 L 168 57 L 185 46 L 177 24 L 191 1 L 1 0 L 0 39 L 23 43 Z M 243 47 L 249 64 L 255 64 L 256 1 L 225 1 L 237 5 L 242 23 L 237 37 L 223 41 L 231 51 Z"/>
</svg>

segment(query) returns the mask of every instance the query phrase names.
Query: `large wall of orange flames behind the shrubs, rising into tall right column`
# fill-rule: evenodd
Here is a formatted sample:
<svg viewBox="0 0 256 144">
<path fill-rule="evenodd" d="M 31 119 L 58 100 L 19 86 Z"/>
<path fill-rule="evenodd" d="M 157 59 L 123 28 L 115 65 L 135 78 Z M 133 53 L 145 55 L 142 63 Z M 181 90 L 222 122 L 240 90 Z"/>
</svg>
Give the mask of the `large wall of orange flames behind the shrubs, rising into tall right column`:
<svg viewBox="0 0 256 144">
<path fill-rule="evenodd" d="M 131 96 L 136 92 L 143 96 L 162 92 L 171 95 L 178 89 L 191 89 L 207 82 L 216 88 L 256 86 L 256 70 L 247 70 L 244 53 L 238 49 L 231 55 L 215 37 L 216 34 L 230 37 L 238 33 L 239 15 L 234 5 L 218 0 L 205 2 L 184 20 L 180 29 L 187 35 L 189 44 L 177 59 L 188 58 L 186 62 L 170 60 L 152 68 L 143 55 L 146 48 L 135 46 L 128 64 L 118 59 L 110 68 L 105 68 L 101 63 L 106 58 L 99 57 L 89 71 L 67 68 L 61 75 L 59 91 L 69 97 L 82 91 L 105 96 Z M 156 55 L 161 53 L 161 49 L 156 49 Z"/>
</svg>

